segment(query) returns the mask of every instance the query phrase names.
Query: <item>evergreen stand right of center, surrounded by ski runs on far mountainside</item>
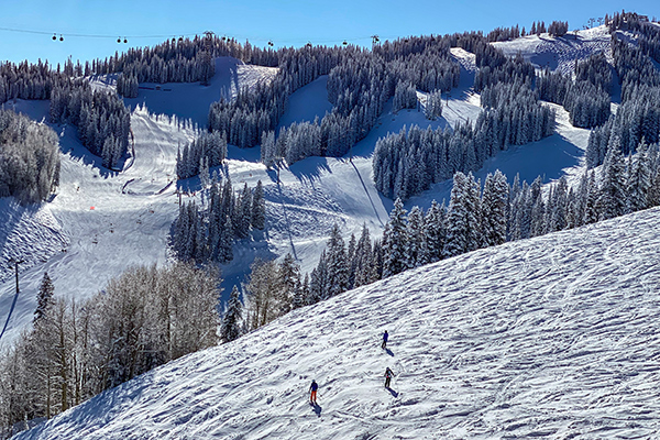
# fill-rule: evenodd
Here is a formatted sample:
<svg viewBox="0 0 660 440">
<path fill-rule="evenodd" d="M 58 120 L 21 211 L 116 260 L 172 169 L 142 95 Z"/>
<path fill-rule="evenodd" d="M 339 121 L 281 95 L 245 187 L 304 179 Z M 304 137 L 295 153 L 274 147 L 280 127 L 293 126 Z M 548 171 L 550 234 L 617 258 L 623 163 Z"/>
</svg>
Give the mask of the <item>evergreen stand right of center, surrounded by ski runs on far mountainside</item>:
<svg viewBox="0 0 660 440">
<path fill-rule="evenodd" d="M 554 112 L 538 102 L 528 85 L 497 84 L 482 94 L 485 110 L 474 125 L 453 130 L 414 125 L 376 142 L 374 183 L 386 197 L 407 199 L 451 178 L 469 173 L 508 145 L 538 141 L 553 133 Z M 495 106 L 495 107 L 491 107 Z"/>
</svg>

